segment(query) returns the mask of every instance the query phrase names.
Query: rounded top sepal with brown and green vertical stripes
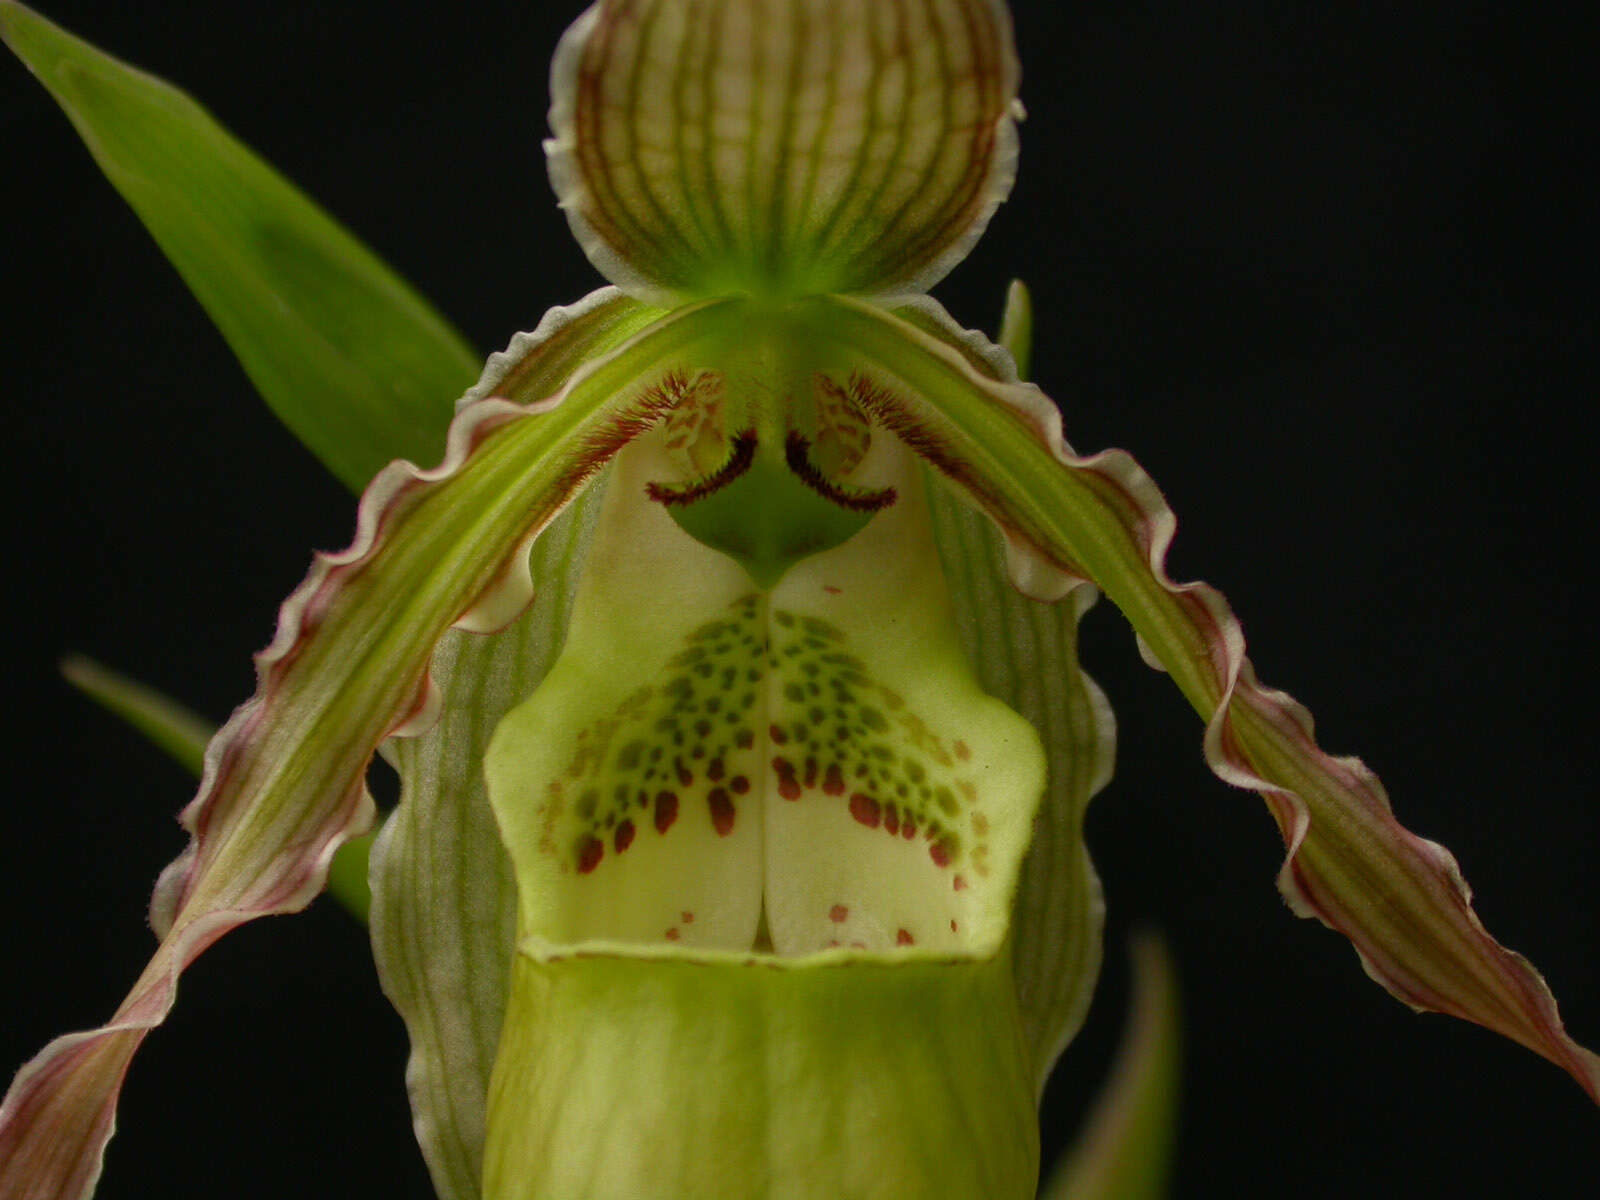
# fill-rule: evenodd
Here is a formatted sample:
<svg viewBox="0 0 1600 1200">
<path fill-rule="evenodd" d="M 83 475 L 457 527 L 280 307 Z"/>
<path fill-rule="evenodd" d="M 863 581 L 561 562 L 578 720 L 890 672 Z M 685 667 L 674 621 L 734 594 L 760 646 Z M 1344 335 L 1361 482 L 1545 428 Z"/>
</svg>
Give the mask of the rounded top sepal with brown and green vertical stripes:
<svg viewBox="0 0 1600 1200">
<path fill-rule="evenodd" d="M 646 299 L 912 294 L 1016 171 L 1000 0 L 602 0 L 550 70 L 550 179 Z"/>
</svg>

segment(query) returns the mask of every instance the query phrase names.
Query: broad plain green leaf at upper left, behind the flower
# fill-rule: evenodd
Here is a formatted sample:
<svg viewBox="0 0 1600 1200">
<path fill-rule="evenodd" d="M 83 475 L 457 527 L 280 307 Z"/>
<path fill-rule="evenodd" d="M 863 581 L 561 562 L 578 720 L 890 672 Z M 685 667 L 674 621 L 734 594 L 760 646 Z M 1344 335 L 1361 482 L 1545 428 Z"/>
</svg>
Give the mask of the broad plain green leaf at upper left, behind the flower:
<svg viewBox="0 0 1600 1200">
<path fill-rule="evenodd" d="M 350 488 L 434 462 L 478 360 L 445 320 L 181 91 L 13 0 L 50 90 L 278 418 Z"/>
</svg>

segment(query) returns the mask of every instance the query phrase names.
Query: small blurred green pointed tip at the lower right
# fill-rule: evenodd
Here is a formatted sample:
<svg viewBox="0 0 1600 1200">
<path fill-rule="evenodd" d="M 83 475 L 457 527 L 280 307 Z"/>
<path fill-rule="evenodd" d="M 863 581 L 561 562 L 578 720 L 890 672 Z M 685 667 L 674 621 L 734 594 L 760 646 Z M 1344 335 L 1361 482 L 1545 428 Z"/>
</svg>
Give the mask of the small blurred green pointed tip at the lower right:
<svg viewBox="0 0 1600 1200">
<path fill-rule="evenodd" d="M 1043 1200 L 1162 1200 L 1178 1139 L 1178 982 L 1158 938 L 1133 942 L 1133 1011 L 1115 1069 Z"/>
</svg>

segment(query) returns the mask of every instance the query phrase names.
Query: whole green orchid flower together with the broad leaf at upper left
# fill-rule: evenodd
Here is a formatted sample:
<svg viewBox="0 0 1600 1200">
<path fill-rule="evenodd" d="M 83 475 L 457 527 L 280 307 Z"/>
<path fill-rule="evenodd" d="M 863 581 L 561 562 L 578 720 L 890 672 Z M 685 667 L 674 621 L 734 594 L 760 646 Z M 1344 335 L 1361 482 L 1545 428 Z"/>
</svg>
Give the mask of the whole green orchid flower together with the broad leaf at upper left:
<svg viewBox="0 0 1600 1200">
<path fill-rule="evenodd" d="M 341 477 L 427 443 L 454 347 L 360 347 L 424 381 L 389 413 L 338 338 L 298 362 L 275 331 L 312 277 L 430 330 L 379 266 L 184 98 L 11 0 L 0 30 L 285 418 L 349 394 L 309 434 Z M 576 21 L 546 152 L 611 283 L 493 355 L 443 459 L 378 470 L 349 549 L 283 603 L 205 752 L 149 966 L 6 1093 L 0 1194 L 93 1192 L 178 976 L 322 891 L 384 750 L 373 946 L 442 1197 L 1032 1195 L 1035 1106 L 1099 970 L 1082 821 L 1114 728 L 1075 638 L 1101 592 L 1211 770 L 1266 800 L 1294 912 L 1600 1101 L 1450 853 L 1258 682 L 1214 589 L 1166 576 L 1150 478 L 1070 448 L 1008 349 L 1022 298 L 997 346 L 926 294 L 1011 187 L 1018 86 L 998 0 Z M 165 166 L 181 203 L 134 170 L 168 139 L 194 152 Z"/>
</svg>

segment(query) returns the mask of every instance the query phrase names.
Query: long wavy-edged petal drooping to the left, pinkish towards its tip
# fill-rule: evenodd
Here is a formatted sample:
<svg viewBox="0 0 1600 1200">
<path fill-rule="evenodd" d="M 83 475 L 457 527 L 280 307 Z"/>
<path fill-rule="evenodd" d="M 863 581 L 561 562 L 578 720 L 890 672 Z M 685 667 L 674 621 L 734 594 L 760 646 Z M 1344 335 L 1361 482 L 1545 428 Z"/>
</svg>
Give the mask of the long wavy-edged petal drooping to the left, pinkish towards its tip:
<svg viewBox="0 0 1600 1200">
<path fill-rule="evenodd" d="M 334 850 L 371 822 L 374 747 L 432 715 L 440 635 L 522 611 L 530 539 L 650 426 L 658 414 L 638 381 L 677 366 L 715 317 L 712 304 L 659 322 L 544 405 L 472 405 L 438 469 L 397 462 L 378 475 L 354 544 L 320 557 L 285 602 L 256 698 L 208 747 L 182 818 L 190 845 L 152 899 L 155 955 L 106 1026 L 46 1046 L 0 1106 L 0 1194 L 78 1200 L 93 1189 L 122 1078 L 171 1008 L 178 974 L 237 925 L 317 894 Z"/>
</svg>

